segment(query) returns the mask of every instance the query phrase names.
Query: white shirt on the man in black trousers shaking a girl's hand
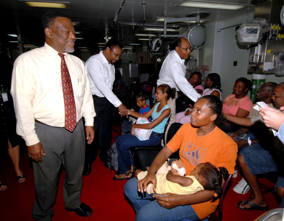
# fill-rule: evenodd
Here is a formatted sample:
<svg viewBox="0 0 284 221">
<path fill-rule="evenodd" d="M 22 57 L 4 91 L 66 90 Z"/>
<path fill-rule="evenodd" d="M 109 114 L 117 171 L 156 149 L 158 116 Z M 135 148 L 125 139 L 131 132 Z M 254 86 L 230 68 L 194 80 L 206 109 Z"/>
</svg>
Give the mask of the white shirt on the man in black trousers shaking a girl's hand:
<svg viewBox="0 0 284 221">
<path fill-rule="evenodd" d="M 92 94 L 99 97 L 106 97 L 115 107 L 121 105 L 121 101 L 112 92 L 115 79 L 114 65 L 106 60 L 103 52 L 91 56 L 86 61 L 86 69 Z"/>
</svg>

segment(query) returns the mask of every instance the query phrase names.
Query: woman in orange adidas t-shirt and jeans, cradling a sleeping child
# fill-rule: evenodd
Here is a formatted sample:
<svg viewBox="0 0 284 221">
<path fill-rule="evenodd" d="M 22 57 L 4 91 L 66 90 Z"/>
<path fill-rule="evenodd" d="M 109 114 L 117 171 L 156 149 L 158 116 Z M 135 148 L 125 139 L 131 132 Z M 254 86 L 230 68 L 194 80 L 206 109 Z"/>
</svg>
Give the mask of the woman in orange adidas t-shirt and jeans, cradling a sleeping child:
<svg viewBox="0 0 284 221">
<path fill-rule="evenodd" d="M 145 190 L 149 182 L 156 189 L 155 172 L 177 150 L 186 166 L 185 175 L 204 162 L 216 167 L 224 166 L 229 174 L 234 173 L 238 148 L 233 139 L 216 126 L 224 122 L 221 110 L 222 102 L 216 96 L 199 98 L 194 104 L 191 123 L 184 124 L 159 152 L 147 176 L 139 181 L 133 178 L 125 184 L 124 192 L 133 203 L 136 220 L 199 220 L 215 211 L 219 200 L 212 201 L 212 190 L 191 195 L 164 193 L 168 197 L 154 198 L 148 196 Z"/>
</svg>

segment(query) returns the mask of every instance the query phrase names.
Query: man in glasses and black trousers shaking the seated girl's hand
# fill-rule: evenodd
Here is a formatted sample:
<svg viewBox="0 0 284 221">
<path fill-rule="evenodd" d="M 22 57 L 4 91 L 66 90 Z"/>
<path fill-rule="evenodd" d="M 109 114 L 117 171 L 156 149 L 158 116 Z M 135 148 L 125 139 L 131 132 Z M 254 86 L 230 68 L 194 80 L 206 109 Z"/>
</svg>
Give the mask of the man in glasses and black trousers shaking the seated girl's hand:
<svg viewBox="0 0 284 221">
<path fill-rule="evenodd" d="M 91 145 L 86 147 L 84 175 L 91 173 L 91 164 L 96 158 L 98 147 L 101 161 L 105 166 L 107 165 L 106 151 L 110 148 L 112 140 L 112 105 L 118 108 L 121 116 L 127 114 L 125 105 L 112 92 L 115 79 L 114 63 L 119 60 L 121 49 L 121 44 L 111 39 L 106 43 L 104 50 L 91 56 L 85 65 L 93 95 L 96 118 L 94 121 L 95 148 Z"/>
</svg>

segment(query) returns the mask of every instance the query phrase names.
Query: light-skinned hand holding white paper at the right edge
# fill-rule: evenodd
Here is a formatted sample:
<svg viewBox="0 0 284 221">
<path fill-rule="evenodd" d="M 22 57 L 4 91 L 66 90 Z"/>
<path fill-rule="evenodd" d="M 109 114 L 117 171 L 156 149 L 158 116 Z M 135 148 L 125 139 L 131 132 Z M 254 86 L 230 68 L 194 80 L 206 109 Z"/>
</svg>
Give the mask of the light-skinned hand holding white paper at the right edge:
<svg viewBox="0 0 284 221">
<path fill-rule="evenodd" d="M 281 107 L 280 109 L 284 109 Z M 259 114 L 262 116 L 264 123 L 267 127 L 279 130 L 281 124 L 284 122 L 284 114 L 276 109 L 266 107 L 259 108 Z"/>
</svg>

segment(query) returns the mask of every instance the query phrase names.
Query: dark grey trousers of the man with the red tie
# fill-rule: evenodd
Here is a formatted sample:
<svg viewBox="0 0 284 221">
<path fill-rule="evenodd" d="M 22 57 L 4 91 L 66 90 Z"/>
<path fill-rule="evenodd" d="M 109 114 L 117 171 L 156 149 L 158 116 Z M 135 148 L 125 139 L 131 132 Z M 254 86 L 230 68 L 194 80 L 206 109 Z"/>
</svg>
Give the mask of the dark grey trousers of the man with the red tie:
<svg viewBox="0 0 284 221">
<path fill-rule="evenodd" d="M 57 193 L 58 173 L 61 164 L 65 167 L 63 197 L 65 208 L 80 206 L 85 161 L 85 134 L 82 119 L 71 133 L 65 128 L 52 127 L 35 122 L 35 132 L 39 137 L 46 156 L 42 163 L 33 162 L 35 177 L 35 202 L 33 218 L 51 220 Z"/>
</svg>

